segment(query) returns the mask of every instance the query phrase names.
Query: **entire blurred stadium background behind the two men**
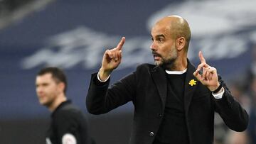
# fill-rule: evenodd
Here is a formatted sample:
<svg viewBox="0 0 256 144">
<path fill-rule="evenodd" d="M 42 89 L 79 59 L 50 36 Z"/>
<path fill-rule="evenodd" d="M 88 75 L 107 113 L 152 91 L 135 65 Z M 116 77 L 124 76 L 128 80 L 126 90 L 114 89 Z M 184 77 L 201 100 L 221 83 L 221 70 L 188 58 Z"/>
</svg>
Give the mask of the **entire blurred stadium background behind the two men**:
<svg viewBox="0 0 256 144">
<path fill-rule="evenodd" d="M 68 98 L 88 118 L 99 144 L 128 143 L 131 103 L 100 116 L 87 113 L 90 74 L 106 48 L 127 38 L 112 82 L 153 63 L 149 45 L 157 19 L 180 15 L 192 31 L 189 58 L 198 51 L 218 69 L 233 95 L 250 113 L 245 133 L 228 130 L 216 114 L 215 144 L 256 143 L 256 1 L 0 0 L 0 143 L 45 143 L 50 112 L 38 104 L 36 72 L 58 66 L 68 75 Z"/>
</svg>

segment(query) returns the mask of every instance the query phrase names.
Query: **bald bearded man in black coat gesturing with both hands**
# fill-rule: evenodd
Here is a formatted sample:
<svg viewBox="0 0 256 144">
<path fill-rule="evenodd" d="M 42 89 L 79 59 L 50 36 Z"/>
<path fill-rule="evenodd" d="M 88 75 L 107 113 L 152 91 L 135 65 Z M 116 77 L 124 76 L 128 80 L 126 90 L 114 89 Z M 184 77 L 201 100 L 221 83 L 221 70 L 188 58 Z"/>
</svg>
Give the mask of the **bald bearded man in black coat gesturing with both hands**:
<svg viewBox="0 0 256 144">
<path fill-rule="evenodd" d="M 87 109 L 107 113 L 134 104 L 130 144 L 213 143 L 214 112 L 234 131 L 245 131 L 247 112 L 235 101 L 217 70 L 206 63 L 194 67 L 187 58 L 191 31 L 180 16 L 167 16 L 151 29 L 155 65 L 143 64 L 109 87 L 110 74 L 122 60 L 125 38 L 106 50 L 99 72 L 92 74 Z"/>
</svg>

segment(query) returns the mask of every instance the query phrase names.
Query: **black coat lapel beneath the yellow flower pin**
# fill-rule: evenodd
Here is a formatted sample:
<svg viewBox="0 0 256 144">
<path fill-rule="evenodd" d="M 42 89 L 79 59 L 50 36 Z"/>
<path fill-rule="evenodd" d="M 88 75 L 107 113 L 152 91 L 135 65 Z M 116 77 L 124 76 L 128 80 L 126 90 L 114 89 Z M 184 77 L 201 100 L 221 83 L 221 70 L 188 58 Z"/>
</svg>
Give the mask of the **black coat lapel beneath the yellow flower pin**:
<svg viewBox="0 0 256 144">
<path fill-rule="evenodd" d="M 188 114 L 188 108 L 191 104 L 191 99 L 193 97 L 193 93 L 196 90 L 196 87 L 198 86 L 198 80 L 196 79 L 196 77 L 193 76 L 193 72 L 196 71 L 196 68 L 191 65 L 191 63 L 188 61 L 188 69 L 187 69 L 187 74 L 186 74 L 186 81 L 185 81 L 185 92 L 184 92 L 184 106 L 185 106 L 185 112 L 186 112 L 186 116 Z M 193 84 L 191 86 L 191 84 L 189 84 L 191 82 L 191 80 L 195 80 L 196 84 Z"/>
</svg>

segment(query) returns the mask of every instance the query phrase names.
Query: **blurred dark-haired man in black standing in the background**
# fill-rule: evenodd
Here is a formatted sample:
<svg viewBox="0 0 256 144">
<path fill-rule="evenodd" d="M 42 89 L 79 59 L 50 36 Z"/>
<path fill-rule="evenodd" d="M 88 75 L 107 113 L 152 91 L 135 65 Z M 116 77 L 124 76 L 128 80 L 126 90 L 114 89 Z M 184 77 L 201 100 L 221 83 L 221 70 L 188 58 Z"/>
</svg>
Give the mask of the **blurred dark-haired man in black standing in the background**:
<svg viewBox="0 0 256 144">
<path fill-rule="evenodd" d="M 36 76 L 36 94 L 39 103 L 52 112 L 47 144 L 89 144 L 87 120 L 82 111 L 65 96 L 68 83 L 57 67 L 46 67 Z"/>
</svg>

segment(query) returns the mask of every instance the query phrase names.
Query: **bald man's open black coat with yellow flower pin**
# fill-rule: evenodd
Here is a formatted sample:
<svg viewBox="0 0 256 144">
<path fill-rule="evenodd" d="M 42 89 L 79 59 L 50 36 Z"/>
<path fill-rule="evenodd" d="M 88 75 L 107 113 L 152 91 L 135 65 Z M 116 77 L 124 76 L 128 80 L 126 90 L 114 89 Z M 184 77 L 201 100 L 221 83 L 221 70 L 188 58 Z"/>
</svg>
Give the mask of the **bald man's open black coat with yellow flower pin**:
<svg viewBox="0 0 256 144">
<path fill-rule="evenodd" d="M 191 144 L 213 143 L 214 112 L 234 131 L 245 131 L 248 115 L 230 94 L 227 87 L 222 99 L 214 99 L 209 89 L 196 80 L 196 68 L 188 61 L 184 107 L 188 137 Z M 189 85 L 195 79 L 196 85 Z M 119 82 L 109 87 L 97 84 L 97 74 L 92 74 L 87 94 L 87 110 L 92 114 L 107 113 L 129 101 L 134 104 L 134 121 L 130 144 L 150 144 L 163 118 L 167 79 L 161 67 L 144 64 Z M 225 85 L 225 84 L 224 84 Z M 175 143 L 175 142 L 174 142 Z"/>
</svg>

